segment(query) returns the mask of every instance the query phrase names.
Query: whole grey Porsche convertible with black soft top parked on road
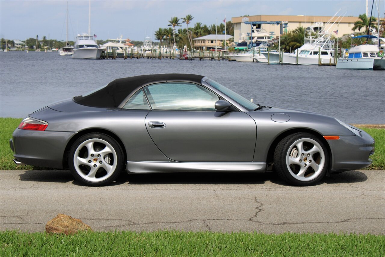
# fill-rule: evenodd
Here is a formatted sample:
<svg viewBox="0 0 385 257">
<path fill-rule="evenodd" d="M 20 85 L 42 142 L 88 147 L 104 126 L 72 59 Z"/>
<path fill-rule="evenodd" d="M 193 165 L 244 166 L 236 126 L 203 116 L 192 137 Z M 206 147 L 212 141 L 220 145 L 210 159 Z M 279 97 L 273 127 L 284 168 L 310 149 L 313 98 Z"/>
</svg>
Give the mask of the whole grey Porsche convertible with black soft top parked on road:
<svg viewBox="0 0 385 257">
<path fill-rule="evenodd" d="M 373 138 L 338 119 L 261 106 L 208 77 L 116 79 L 23 119 L 16 164 L 69 168 L 90 186 L 119 173 L 266 172 L 313 185 L 372 163 Z"/>
</svg>

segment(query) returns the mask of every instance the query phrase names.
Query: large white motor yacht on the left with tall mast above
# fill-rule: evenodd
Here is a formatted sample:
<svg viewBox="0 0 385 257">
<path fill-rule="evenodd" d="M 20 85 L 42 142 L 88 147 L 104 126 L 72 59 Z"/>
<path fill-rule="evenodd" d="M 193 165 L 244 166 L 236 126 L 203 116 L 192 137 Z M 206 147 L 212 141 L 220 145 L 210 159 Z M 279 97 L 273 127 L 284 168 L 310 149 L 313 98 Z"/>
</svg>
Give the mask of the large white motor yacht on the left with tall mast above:
<svg viewBox="0 0 385 257">
<path fill-rule="evenodd" d="M 78 34 L 75 42 L 75 51 L 72 58 L 75 59 L 100 59 L 103 48 L 99 48 L 91 34 L 91 0 L 89 1 L 88 34 Z"/>
</svg>

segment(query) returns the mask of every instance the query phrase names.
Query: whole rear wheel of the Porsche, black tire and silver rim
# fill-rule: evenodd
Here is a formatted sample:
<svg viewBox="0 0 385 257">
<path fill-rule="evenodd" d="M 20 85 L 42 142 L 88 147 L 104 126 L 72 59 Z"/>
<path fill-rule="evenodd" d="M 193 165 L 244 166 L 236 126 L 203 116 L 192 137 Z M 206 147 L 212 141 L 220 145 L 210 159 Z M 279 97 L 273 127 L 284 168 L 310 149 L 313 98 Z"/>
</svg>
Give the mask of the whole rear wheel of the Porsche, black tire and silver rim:
<svg viewBox="0 0 385 257">
<path fill-rule="evenodd" d="M 88 186 L 104 186 L 116 180 L 124 168 L 120 144 L 104 133 L 89 133 L 71 146 L 68 166 L 74 178 Z"/>
</svg>

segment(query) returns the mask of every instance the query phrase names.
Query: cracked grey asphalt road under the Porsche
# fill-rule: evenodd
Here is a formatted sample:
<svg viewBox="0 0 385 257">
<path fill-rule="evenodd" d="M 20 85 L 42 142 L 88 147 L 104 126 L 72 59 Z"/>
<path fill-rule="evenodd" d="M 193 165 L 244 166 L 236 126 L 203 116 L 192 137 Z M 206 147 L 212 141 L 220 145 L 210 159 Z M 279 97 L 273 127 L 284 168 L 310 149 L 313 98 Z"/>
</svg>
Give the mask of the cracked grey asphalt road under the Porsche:
<svg viewBox="0 0 385 257">
<path fill-rule="evenodd" d="M 69 171 L 0 171 L 0 230 L 44 231 L 57 213 L 94 230 L 385 234 L 385 170 L 348 171 L 310 187 L 274 174 L 123 174 L 105 187 Z"/>
</svg>

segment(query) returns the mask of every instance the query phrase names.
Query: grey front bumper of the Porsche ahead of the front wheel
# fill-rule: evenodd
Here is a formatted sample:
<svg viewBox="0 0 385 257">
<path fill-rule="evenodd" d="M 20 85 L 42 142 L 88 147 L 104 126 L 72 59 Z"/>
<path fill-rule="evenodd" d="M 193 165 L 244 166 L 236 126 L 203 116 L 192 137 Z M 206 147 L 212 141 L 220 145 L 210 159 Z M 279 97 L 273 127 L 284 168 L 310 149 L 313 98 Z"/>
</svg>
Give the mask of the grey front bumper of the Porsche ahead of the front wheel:
<svg viewBox="0 0 385 257">
<path fill-rule="evenodd" d="M 338 140 L 328 140 L 332 165 L 331 172 L 359 170 L 372 164 L 370 155 L 375 149 L 374 139 L 365 131 L 359 136 L 341 136 Z"/>
</svg>

